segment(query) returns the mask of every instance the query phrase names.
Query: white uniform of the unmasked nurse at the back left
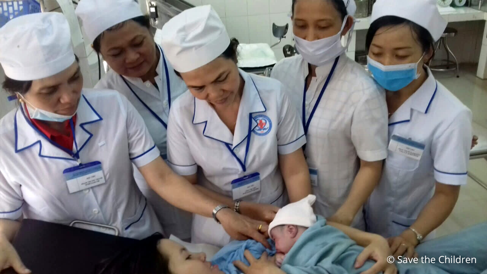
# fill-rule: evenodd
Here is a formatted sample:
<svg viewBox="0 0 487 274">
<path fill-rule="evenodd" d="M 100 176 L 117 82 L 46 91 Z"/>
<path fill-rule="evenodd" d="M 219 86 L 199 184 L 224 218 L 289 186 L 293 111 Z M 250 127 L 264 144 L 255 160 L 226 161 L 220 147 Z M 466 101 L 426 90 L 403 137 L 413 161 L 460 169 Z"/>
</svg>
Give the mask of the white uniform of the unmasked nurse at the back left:
<svg viewBox="0 0 487 274">
<path fill-rule="evenodd" d="M 187 91 L 187 87 L 184 81 L 174 73 L 174 69 L 166 60 L 161 47 L 156 45 L 156 48 L 160 52 L 156 69 L 157 76 L 154 78 L 156 85 L 150 81 L 143 82 L 141 78 L 122 77 L 110 70 L 95 85 L 95 88 L 114 89 L 127 97 L 144 119 L 161 156 L 167 159 L 166 131 L 169 108 L 176 98 Z M 140 190 L 154 207 L 164 233 L 168 237 L 172 234 L 181 239 L 188 239 L 191 236 L 191 214 L 173 207 L 155 193 L 136 168 L 134 177 Z"/>
</svg>

